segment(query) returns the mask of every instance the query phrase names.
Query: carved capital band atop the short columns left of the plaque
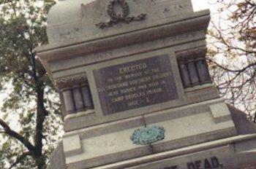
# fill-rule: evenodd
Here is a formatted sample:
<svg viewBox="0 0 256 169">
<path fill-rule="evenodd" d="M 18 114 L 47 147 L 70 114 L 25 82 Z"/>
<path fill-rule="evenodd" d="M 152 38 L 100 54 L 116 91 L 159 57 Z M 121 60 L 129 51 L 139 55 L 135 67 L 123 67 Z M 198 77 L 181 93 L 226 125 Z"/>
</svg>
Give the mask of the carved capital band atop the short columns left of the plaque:
<svg viewBox="0 0 256 169">
<path fill-rule="evenodd" d="M 56 86 L 63 90 L 64 88 L 71 88 L 74 86 L 80 86 L 87 83 L 86 74 L 77 74 L 73 76 L 66 76 L 60 79 L 56 79 Z"/>
</svg>

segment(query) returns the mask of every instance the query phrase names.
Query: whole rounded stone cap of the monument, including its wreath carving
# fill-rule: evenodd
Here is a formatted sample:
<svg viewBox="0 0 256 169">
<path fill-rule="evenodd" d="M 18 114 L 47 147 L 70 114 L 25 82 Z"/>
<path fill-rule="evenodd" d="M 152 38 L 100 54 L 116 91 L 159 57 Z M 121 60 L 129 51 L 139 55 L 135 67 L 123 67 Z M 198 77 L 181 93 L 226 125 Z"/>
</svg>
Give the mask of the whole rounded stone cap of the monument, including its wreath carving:
<svg viewBox="0 0 256 169">
<path fill-rule="evenodd" d="M 192 13 L 189 0 L 59 1 L 48 14 L 48 40 L 53 47 L 65 46 L 170 23 Z"/>
</svg>

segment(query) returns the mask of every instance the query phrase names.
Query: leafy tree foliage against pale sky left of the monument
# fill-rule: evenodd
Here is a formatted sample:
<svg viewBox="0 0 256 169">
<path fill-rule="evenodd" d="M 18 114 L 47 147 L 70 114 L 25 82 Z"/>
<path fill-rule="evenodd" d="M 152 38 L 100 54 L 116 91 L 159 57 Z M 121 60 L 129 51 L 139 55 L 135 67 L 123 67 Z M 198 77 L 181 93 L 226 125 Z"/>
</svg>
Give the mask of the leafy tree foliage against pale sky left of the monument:
<svg viewBox="0 0 256 169">
<path fill-rule="evenodd" d="M 47 43 L 45 21 L 54 3 L 52 0 L 0 0 L 0 91 L 10 93 L 0 118 L 11 122 L 11 127 L 35 146 L 34 154 L 15 168 L 40 168 L 36 150 L 42 149 L 40 158 L 47 163 L 61 136 L 58 135 L 62 130 L 59 95 L 35 50 Z M 39 130 L 42 138 L 35 130 L 40 123 L 43 124 Z M 7 168 L 28 149 L 8 134 L 0 135 L 5 140 L 3 144 L 0 142 L 0 168 Z"/>
</svg>

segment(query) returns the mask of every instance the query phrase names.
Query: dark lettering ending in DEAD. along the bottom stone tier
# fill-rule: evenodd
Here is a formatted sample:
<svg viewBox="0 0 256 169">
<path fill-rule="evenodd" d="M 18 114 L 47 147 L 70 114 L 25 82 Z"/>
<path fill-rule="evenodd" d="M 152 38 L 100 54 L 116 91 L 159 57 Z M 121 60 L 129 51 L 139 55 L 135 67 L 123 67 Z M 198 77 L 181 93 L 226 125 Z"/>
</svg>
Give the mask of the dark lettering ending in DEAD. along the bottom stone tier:
<svg viewBox="0 0 256 169">
<path fill-rule="evenodd" d="M 178 169 L 178 165 L 173 165 L 164 169 Z M 219 163 L 217 157 L 211 157 L 210 159 L 197 160 L 195 162 L 187 162 L 187 169 L 214 169 L 223 168 L 223 165 Z"/>
</svg>

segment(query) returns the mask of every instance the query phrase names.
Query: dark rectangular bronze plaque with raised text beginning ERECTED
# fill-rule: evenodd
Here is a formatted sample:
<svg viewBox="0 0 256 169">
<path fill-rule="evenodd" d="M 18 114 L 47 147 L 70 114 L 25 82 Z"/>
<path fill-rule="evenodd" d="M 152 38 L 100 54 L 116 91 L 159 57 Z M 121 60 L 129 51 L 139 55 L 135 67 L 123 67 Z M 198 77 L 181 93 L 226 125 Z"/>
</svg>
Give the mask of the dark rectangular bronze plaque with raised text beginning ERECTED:
<svg viewBox="0 0 256 169">
<path fill-rule="evenodd" d="M 100 68 L 94 79 L 105 115 L 178 98 L 168 55 Z"/>
</svg>

